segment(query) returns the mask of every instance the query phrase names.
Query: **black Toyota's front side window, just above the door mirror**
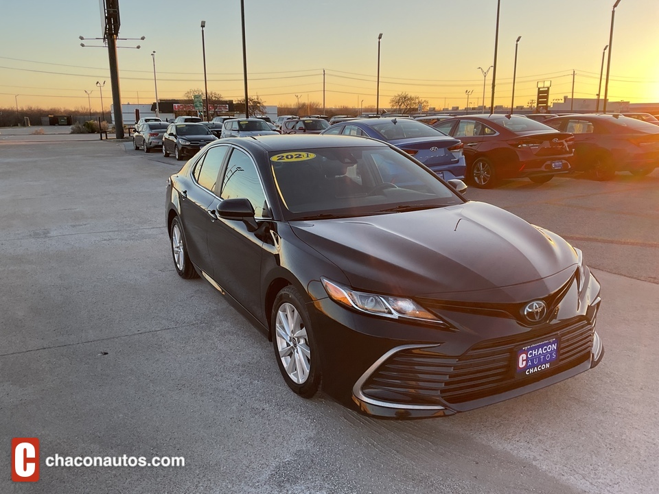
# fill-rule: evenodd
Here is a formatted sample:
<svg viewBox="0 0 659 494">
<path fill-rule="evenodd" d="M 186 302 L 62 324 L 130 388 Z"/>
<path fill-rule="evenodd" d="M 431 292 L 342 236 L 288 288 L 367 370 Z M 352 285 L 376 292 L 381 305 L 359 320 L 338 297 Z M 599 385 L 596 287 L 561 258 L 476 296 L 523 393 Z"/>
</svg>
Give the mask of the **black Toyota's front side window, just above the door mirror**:
<svg viewBox="0 0 659 494">
<path fill-rule="evenodd" d="M 234 149 L 227 163 L 222 180 L 222 199 L 247 198 L 256 217 L 264 217 L 267 209 L 266 196 L 261 179 L 251 158 L 243 151 Z"/>
</svg>

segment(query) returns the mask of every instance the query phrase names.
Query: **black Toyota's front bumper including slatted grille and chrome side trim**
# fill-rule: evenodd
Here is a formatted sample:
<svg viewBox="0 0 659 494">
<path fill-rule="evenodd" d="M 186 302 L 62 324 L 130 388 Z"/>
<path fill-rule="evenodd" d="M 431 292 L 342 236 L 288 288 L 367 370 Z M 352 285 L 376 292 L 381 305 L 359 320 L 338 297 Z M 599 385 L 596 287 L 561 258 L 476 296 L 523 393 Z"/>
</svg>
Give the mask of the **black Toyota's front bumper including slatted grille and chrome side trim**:
<svg viewBox="0 0 659 494">
<path fill-rule="evenodd" d="M 599 364 L 603 345 L 594 325 L 599 283 L 575 300 L 576 281 L 557 305 L 553 320 L 522 327 L 517 320 L 445 311 L 461 330 L 404 324 L 355 314 L 329 299 L 316 300 L 316 328 L 323 351 L 323 386 L 365 414 L 414 419 L 448 416 L 544 388 Z M 478 332 L 465 328 L 479 328 Z M 480 329 L 483 328 L 483 329 Z M 518 350 L 557 338 L 559 358 L 548 368 L 516 372 Z"/>
</svg>

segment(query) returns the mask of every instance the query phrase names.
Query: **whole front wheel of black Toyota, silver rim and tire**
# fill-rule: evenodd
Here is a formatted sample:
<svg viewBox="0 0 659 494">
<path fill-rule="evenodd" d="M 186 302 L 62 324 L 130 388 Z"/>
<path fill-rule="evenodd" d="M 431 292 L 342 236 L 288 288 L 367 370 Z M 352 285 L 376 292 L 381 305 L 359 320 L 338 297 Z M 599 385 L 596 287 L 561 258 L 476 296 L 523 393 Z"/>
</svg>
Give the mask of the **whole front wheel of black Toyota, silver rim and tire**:
<svg viewBox="0 0 659 494">
<path fill-rule="evenodd" d="M 312 398 L 321 387 L 321 365 L 309 313 L 299 292 L 284 287 L 275 298 L 271 316 L 273 348 L 288 387 Z"/>
</svg>

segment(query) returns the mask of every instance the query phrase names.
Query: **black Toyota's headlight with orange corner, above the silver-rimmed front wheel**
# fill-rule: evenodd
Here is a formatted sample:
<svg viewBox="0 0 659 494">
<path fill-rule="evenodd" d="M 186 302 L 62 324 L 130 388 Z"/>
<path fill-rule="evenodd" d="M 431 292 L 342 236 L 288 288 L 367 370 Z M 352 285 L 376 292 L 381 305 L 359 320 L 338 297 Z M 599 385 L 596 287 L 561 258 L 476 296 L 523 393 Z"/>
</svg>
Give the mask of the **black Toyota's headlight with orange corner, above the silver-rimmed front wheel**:
<svg viewBox="0 0 659 494">
<path fill-rule="evenodd" d="M 329 281 L 327 278 L 321 278 L 321 282 L 329 298 L 345 307 L 373 314 L 374 316 L 423 320 L 448 327 L 446 322 L 421 307 L 411 298 L 358 292 L 334 281 Z"/>
</svg>

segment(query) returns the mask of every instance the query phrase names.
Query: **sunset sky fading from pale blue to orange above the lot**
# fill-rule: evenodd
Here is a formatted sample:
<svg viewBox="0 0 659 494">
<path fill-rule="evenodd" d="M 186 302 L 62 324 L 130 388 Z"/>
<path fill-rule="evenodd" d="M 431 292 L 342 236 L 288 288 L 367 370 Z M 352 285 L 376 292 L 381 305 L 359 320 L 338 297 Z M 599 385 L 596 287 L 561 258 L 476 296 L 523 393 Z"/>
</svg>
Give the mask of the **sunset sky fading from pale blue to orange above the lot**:
<svg viewBox="0 0 659 494">
<path fill-rule="evenodd" d="M 550 100 L 597 95 L 602 51 L 614 0 L 501 0 L 496 104 L 509 106 L 515 40 L 519 43 L 515 104 L 535 99 L 551 80 Z M 0 108 L 41 106 L 100 110 L 96 82 L 106 80 L 106 49 L 80 47 L 101 36 L 96 0 L 5 1 L 0 6 Z M 123 103 L 182 97 L 203 88 L 200 21 L 206 21 L 209 91 L 244 96 L 240 0 L 119 0 L 119 75 Z M 482 104 L 483 75 L 494 62 L 496 0 L 245 0 L 250 95 L 268 105 L 308 100 L 375 106 L 378 34 L 380 106 L 405 91 L 430 106 Z M 616 9 L 609 100 L 659 102 L 659 0 L 622 0 Z M 100 45 L 99 40 L 85 40 Z M 604 69 L 606 70 L 606 62 Z M 487 75 L 489 105 L 492 71 Z M 604 84 L 602 84 L 602 95 Z M 15 97 L 18 95 L 18 97 Z"/>
</svg>

